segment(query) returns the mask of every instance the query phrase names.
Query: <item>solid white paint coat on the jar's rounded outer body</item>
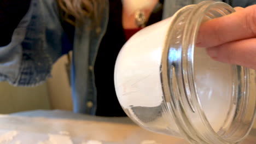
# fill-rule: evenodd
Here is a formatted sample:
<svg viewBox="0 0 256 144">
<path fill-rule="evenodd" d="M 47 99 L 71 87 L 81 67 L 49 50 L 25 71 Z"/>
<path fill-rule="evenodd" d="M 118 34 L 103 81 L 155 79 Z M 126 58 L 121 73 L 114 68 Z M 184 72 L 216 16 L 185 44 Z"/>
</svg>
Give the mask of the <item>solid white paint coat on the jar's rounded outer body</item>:
<svg viewBox="0 0 256 144">
<path fill-rule="evenodd" d="M 144 28 L 121 49 L 114 76 L 115 91 L 123 107 L 154 107 L 162 103 L 161 51 L 171 20 Z"/>
</svg>

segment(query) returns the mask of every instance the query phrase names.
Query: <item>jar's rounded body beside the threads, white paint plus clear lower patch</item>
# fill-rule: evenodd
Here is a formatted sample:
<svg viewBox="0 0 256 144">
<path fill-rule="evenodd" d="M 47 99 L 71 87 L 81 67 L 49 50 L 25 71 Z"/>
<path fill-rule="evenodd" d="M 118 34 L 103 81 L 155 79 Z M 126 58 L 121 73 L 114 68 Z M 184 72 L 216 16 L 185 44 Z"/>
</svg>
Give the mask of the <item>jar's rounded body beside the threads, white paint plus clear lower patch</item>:
<svg viewBox="0 0 256 144">
<path fill-rule="evenodd" d="M 114 82 L 119 103 L 138 124 L 179 136 L 173 118 L 161 110 L 161 57 L 171 22 L 172 17 L 143 28 L 127 41 L 115 63 Z"/>
</svg>

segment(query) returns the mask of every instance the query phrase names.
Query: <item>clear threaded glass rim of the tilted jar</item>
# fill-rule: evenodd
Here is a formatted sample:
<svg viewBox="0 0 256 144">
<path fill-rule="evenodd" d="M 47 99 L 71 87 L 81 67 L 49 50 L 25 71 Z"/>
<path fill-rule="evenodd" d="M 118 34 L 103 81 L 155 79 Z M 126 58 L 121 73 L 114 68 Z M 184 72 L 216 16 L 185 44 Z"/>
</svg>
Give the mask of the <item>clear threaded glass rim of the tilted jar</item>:
<svg viewBox="0 0 256 144">
<path fill-rule="evenodd" d="M 216 133 L 211 127 L 211 124 L 208 122 L 204 111 L 202 110 L 202 107 L 200 105 L 200 100 L 198 98 L 198 95 L 196 93 L 196 88 L 194 84 L 194 69 L 193 69 L 193 53 L 194 53 L 194 47 L 196 45 L 196 37 L 197 33 L 199 31 L 199 27 L 201 25 L 201 21 L 203 17 L 208 13 L 209 10 L 215 10 L 218 13 L 222 13 L 221 15 L 228 15 L 230 13 L 233 13 L 235 10 L 228 4 L 223 2 L 214 2 L 214 1 L 203 1 L 197 5 L 188 5 L 187 7 L 182 8 L 179 10 L 176 14 L 173 15 L 173 21 L 171 22 L 171 25 L 168 29 L 167 35 L 166 35 L 166 41 L 165 41 L 165 47 L 162 51 L 162 62 L 161 62 L 161 81 L 163 84 L 163 92 L 164 92 L 164 99 L 165 101 L 173 101 L 171 104 L 171 109 L 169 109 L 175 119 L 175 121 L 179 125 L 180 132 L 187 137 L 190 141 L 197 141 L 202 140 L 203 141 L 211 141 L 211 142 L 217 142 L 217 143 L 236 143 L 238 141 L 241 141 L 251 129 L 251 125 L 253 123 L 254 114 L 252 114 L 251 118 L 251 125 L 248 125 L 248 127 L 237 127 L 236 131 L 243 131 L 242 134 L 236 137 L 236 139 L 224 139 L 222 136 Z M 188 12 L 189 11 L 189 12 Z M 184 23 L 181 23 L 181 17 L 186 17 L 186 20 Z M 182 56 L 177 59 L 170 59 L 170 55 L 173 55 L 173 53 L 177 53 L 176 50 L 171 49 L 172 42 L 171 37 L 174 37 L 173 35 L 177 29 L 173 28 L 175 26 L 183 28 L 183 40 L 180 40 L 179 43 L 181 43 L 182 47 Z M 185 39 L 185 40 L 184 40 Z M 182 67 L 175 67 L 175 63 L 181 63 Z M 178 65 L 178 64 L 177 64 Z M 243 68 L 241 66 L 234 65 L 234 69 L 241 69 L 243 71 L 243 77 L 245 77 L 244 85 L 248 85 L 248 79 L 249 79 L 249 73 L 247 68 Z M 177 70 L 179 69 L 179 70 Z M 172 75 L 178 75 L 182 76 L 182 80 L 175 79 L 175 76 Z M 174 78 L 173 78 L 174 77 Z M 175 85 L 172 85 L 173 82 L 182 83 L 184 85 L 184 89 L 187 92 L 185 93 L 185 96 L 179 95 L 179 93 L 172 92 L 173 89 L 177 89 L 177 87 L 173 87 Z M 247 88 L 247 89 L 246 89 Z M 249 97 L 248 95 L 248 87 L 245 88 L 245 94 L 243 95 L 245 98 Z M 236 95 L 237 97 L 237 95 Z M 195 136 L 196 134 L 193 134 L 192 131 L 198 132 L 193 127 L 193 124 L 189 122 L 187 119 L 186 114 L 181 113 L 181 109 L 184 109 L 182 105 L 179 105 L 179 101 L 186 101 L 187 105 L 190 107 L 190 111 L 192 113 L 195 113 L 198 115 L 198 117 L 201 118 L 201 122 L 203 124 L 204 131 L 207 131 L 205 134 L 200 134 L 202 137 Z M 241 103 L 246 103 L 246 101 L 241 101 Z M 241 106 L 241 105 L 240 105 Z M 245 110 L 246 105 L 244 104 L 242 107 L 243 110 Z M 236 107 L 236 109 L 238 109 Z M 179 110 L 179 111 L 177 111 Z M 242 111 L 240 111 L 242 112 Z M 182 121 L 181 121 L 182 119 Z M 187 127 L 187 128 L 185 128 Z M 234 127 L 235 125 L 231 125 L 231 128 L 233 128 L 233 131 L 225 131 L 225 135 L 228 134 L 234 134 Z M 187 131 L 185 129 L 190 129 L 190 131 Z M 198 141 L 197 141 L 198 142 Z M 195 142 L 196 143 L 196 142 Z"/>
</svg>

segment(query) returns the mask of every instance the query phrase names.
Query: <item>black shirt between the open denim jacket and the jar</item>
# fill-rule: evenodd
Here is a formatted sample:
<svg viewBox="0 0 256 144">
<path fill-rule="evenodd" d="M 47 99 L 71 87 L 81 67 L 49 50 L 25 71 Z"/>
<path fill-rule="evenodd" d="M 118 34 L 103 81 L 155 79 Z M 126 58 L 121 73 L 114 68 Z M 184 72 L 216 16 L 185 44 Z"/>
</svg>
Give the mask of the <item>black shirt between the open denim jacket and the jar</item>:
<svg viewBox="0 0 256 144">
<path fill-rule="evenodd" d="M 95 62 L 95 83 L 97 88 L 97 116 L 126 116 L 121 108 L 114 88 L 114 65 L 126 38 L 122 25 L 122 3 L 109 0 L 109 21 Z M 154 11 L 147 25 L 160 21 L 162 7 Z"/>
</svg>

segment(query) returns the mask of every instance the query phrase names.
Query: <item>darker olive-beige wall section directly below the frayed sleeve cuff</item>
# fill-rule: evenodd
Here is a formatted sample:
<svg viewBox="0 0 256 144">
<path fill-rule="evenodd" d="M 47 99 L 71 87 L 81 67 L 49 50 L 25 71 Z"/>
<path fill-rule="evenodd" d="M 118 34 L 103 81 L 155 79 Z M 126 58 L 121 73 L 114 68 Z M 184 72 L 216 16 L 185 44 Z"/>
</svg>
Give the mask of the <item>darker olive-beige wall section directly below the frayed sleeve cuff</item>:
<svg viewBox="0 0 256 144">
<path fill-rule="evenodd" d="M 46 83 L 38 87 L 14 87 L 0 82 L 0 113 L 51 109 Z"/>
</svg>

